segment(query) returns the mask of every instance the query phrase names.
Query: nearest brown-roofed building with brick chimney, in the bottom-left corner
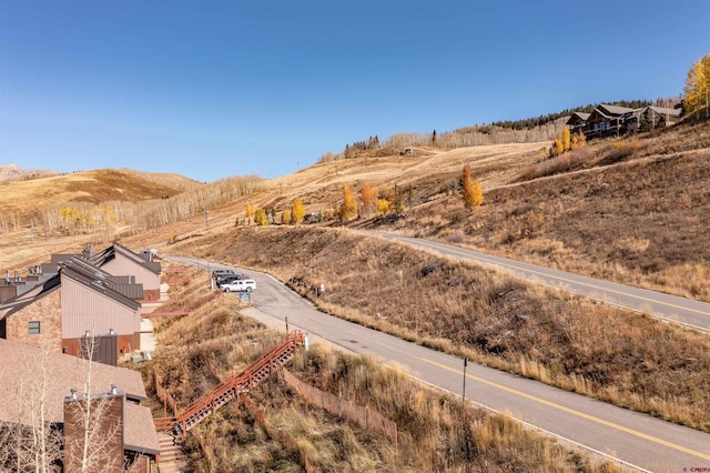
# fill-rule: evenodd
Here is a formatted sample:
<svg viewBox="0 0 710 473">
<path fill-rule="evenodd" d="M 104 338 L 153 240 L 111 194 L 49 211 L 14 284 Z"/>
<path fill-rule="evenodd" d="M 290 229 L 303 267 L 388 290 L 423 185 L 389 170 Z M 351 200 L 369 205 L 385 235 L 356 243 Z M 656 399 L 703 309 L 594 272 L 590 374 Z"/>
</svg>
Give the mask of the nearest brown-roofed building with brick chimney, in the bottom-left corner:
<svg viewBox="0 0 710 473">
<path fill-rule="evenodd" d="M 13 434 L 0 445 L 0 449 L 7 449 L 1 453 L 9 453 L 9 456 L 0 455 L 0 459 L 10 462 L 0 463 L 0 471 L 16 466 L 17 451 L 26 452 L 30 463 L 34 461 L 31 439 L 39 432 L 37 420 L 41 419 L 40 414 L 60 443 L 54 463 L 57 471 L 79 471 L 77 464 L 84 439 L 81 421 L 85 409 L 82 407 L 88 401 L 94 412 L 100 413 L 90 427 L 90 434 L 94 435 L 93 444 L 100 440 L 109 445 L 90 464 L 90 471 L 121 472 L 130 467 L 131 471 L 149 473 L 160 460 L 160 444 L 151 411 L 140 405 L 146 397 L 140 372 L 101 363 L 90 364 L 87 360 L 8 340 L 0 340 L 0 359 L 3 360 L 0 368 L 3 386 L 0 394 L 0 437 L 3 433 Z M 89 373 L 91 383 L 84 391 Z M 43 404 L 38 402 L 40 396 Z M 42 412 L 38 411 L 40 405 L 43 405 Z"/>
</svg>

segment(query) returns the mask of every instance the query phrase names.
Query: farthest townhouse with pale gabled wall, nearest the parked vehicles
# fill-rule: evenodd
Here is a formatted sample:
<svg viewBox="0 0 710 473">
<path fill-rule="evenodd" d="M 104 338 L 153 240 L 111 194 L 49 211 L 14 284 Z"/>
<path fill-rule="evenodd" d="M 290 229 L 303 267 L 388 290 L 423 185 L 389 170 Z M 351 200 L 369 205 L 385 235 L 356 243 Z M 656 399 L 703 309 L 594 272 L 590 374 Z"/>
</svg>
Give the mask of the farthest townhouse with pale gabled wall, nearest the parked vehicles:
<svg viewBox="0 0 710 473">
<path fill-rule="evenodd" d="M 135 278 L 134 282 L 143 286 L 145 300 L 158 301 L 160 299 L 161 265 L 159 262 L 146 261 L 140 254 L 118 242 L 97 254 L 92 254 L 88 261 L 111 274 L 132 274 Z"/>
</svg>

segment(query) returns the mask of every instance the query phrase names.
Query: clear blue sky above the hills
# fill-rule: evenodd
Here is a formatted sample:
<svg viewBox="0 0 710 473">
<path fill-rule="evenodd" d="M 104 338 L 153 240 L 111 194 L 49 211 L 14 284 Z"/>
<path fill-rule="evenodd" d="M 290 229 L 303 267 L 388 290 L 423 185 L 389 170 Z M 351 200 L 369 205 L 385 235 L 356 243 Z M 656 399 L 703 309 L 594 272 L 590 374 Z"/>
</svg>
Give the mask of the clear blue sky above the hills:
<svg viewBox="0 0 710 473">
<path fill-rule="evenodd" d="M 377 134 L 679 95 L 707 0 L 0 0 L 0 164 L 284 175 Z"/>
</svg>

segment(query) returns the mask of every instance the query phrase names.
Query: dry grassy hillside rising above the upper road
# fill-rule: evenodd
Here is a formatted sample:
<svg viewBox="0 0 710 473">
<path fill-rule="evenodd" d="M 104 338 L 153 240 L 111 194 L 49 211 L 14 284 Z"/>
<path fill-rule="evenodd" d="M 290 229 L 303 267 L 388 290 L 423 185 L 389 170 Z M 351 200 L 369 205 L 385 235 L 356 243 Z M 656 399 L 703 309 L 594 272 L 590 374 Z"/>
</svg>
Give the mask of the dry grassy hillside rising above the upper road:
<svg viewBox="0 0 710 473">
<path fill-rule="evenodd" d="M 710 124 L 681 124 L 627 139 L 590 142 L 556 159 L 544 159 L 549 143 L 500 144 L 456 150 L 415 148 L 415 155 L 382 150 L 356 159 L 318 163 L 263 181 L 193 219 L 131 236 L 138 245 L 164 246 L 194 232 L 219 233 L 246 220 L 246 205 L 273 212 L 275 221 L 301 199 L 307 212 L 332 214 L 343 184 L 354 194 L 371 185 L 382 197 L 395 187 L 404 195 L 402 215 L 378 218 L 363 209 L 348 227 L 397 231 L 480 249 L 542 265 L 710 300 Z M 465 211 L 457 192 L 464 164 L 483 184 L 485 203 Z M 39 181 L 38 181 L 39 182 Z M 30 183 L 28 183 L 29 185 Z M 2 189 L 2 188 L 0 188 Z M 6 189 L 2 189 L 3 193 Z M 32 195 L 27 188 L 21 195 Z M 45 190 L 37 190 L 42 195 Z M 160 192 L 159 192 L 160 194 Z M 67 199 L 70 194 L 63 194 Z M 94 201 L 97 198 L 93 198 Z M 12 200 L 12 199 L 10 199 Z M 3 202 L 7 200 L 3 199 Z M 36 199 L 32 199 L 36 201 Z M 41 198 L 38 202 L 41 202 Z M 170 207 L 170 200 L 162 201 Z M 206 224 L 209 223 L 209 228 Z M 322 225 L 341 225 L 336 219 Z M 0 234 L 0 248 L 32 244 L 24 227 Z M 129 238 L 130 224 L 113 235 L 85 234 L 97 244 Z M 39 230 L 36 231 L 39 234 Z M 67 240 L 60 246 L 68 246 Z M 73 244 L 73 243 L 72 243 Z M 75 243 L 79 248 L 79 242 Z M 30 260 L 0 258 L 22 268 Z"/>
</svg>

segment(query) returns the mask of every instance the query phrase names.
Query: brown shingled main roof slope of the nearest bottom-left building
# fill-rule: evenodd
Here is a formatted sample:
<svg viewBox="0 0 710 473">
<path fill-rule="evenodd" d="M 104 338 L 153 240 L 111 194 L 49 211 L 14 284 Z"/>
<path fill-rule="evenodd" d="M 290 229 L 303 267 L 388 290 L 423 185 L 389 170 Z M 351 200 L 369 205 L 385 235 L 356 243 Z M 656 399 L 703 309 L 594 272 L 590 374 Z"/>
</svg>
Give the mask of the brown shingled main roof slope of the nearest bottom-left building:
<svg viewBox="0 0 710 473">
<path fill-rule="evenodd" d="M 0 421 L 29 425 L 30 413 L 21 409 L 32 394 L 34 381 L 41 381 L 45 373 L 47 420 L 52 423 L 64 421 L 64 397 L 71 389 L 83 390 L 83 380 L 88 373 L 88 360 L 45 351 L 0 339 L 0 380 L 2 380 L 2 402 Z M 103 363 L 91 364 L 91 390 L 94 393 L 109 392 L 115 384 L 130 400 L 143 400 L 145 386 L 138 371 L 116 368 Z M 20 388 L 24 392 L 20 393 Z"/>
</svg>

